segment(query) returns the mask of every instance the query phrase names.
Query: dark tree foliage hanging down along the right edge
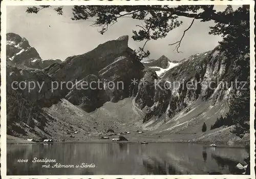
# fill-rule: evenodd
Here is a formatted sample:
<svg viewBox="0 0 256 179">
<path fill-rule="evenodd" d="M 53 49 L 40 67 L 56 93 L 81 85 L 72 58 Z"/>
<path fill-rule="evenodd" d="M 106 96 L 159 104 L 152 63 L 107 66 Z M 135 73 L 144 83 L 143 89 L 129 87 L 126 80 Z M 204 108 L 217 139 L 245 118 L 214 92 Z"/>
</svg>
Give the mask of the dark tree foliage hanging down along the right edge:
<svg viewBox="0 0 256 179">
<path fill-rule="evenodd" d="M 231 6 L 227 6 L 226 10 L 220 12 L 221 15 L 233 14 L 240 18 L 249 15 L 249 6 L 239 7 L 236 11 Z M 250 119 L 250 91 L 249 91 L 249 70 L 250 70 L 250 28 L 249 21 L 229 21 L 229 23 L 217 23 L 215 27 L 210 28 L 210 34 L 222 35 L 223 41 L 220 42 L 221 50 L 225 51 L 228 58 L 234 58 L 232 68 L 237 75 L 237 81 L 246 82 L 245 86 L 232 86 L 234 89 L 232 98 L 229 103 L 229 112 L 227 118 L 231 119 L 235 125 L 235 133 L 239 137 L 243 137 L 249 132 Z M 247 57 L 246 57 L 247 56 Z M 242 89 L 243 87 L 243 89 Z M 230 121 L 230 120 L 224 120 Z M 225 123 L 223 124 L 225 125 Z"/>
</svg>

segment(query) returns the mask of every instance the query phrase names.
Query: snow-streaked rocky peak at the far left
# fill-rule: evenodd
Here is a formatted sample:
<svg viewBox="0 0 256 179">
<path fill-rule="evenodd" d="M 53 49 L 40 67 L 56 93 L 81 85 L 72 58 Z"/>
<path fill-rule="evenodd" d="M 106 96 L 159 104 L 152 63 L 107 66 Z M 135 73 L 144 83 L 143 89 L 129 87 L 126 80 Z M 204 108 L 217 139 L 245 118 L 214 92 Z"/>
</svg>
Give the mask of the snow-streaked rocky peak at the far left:
<svg viewBox="0 0 256 179">
<path fill-rule="evenodd" d="M 36 49 L 31 47 L 26 38 L 14 33 L 6 34 L 6 60 L 7 64 L 18 67 L 44 69 L 52 63 L 61 60 L 42 60 Z"/>
</svg>

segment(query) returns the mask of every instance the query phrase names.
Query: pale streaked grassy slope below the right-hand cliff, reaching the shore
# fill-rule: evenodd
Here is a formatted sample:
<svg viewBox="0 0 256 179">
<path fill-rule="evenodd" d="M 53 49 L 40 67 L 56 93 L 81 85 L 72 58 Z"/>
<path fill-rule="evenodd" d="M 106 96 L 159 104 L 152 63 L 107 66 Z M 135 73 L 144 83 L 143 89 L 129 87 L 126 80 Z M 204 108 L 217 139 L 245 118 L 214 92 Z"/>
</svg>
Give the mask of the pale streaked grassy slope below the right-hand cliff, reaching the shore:
<svg viewBox="0 0 256 179">
<path fill-rule="evenodd" d="M 187 108 L 190 108 L 190 110 L 186 113 Z M 248 136 L 241 140 L 233 135 L 230 132 L 232 127 L 220 127 L 210 130 L 210 126 L 215 123 L 217 117 L 219 117 L 218 115 L 225 113 L 225 110 L 227 110 L 225 103 L 212 106 L 209 102 L 196 101 L 169 121 L 163 122 L 164 119 L 155 119 L 145 124 L 144 127 L 152 130 L 152 136 L 160 135 L 163 139 L 169 138 L 175 141 L 248 141 Z M 201 131 L 204 122 L 207 125 L 206 132 Z"/>
</svg>

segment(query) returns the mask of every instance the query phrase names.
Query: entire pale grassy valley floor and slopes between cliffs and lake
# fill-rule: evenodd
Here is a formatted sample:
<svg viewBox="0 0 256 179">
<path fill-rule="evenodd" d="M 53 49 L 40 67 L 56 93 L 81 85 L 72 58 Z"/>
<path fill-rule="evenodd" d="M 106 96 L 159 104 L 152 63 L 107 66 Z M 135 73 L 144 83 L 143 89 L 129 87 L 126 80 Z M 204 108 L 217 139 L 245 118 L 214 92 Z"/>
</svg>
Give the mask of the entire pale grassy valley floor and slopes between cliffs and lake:
<svg viewBox="0 0 256 179">
<path fill-rule="evenodd" d="M 130 131 L 131 134 L 123 135 L 130 142 L 241 142 L 241 139 L 232 135 L 230 128 L 209 130 L 210 125 L 216 120 L 216 114 L 221 114 L 220 110 L 225 109 L 225 104 L 213 107 L 210 103 L 196 101 L 190 108 L 187 113 L 185 108 L 169 121 L 164 120 L 163 116 L 162 119 L 153 119 L 142 124 L 143 112 L 134 106 L 132 98 L 125 98 L 117 103 L 107 102 L 93 113 L 86 113 L 63 99 L 58 104 L 45 108 L 55 118 L 48 122 L 45 132 L 53 136 L 55 141 L 65 139 L 79 142 L 110 142 L 118 136 L 111 136 L 109 140 L 99 138 L 111 128 L 116 133 Z M 201 131 L 203 122 L 207 125 L 205 133 Z M 143 130 L 144 133 L 138 134 L 137 130 Z M 74 131 L 78 133 L 74 134 Z M 71 135 L 74 138 L 71 138 Z M 32 136 L 28 135 L 26 138 L 30 137 Z M 242 141 L 248 140 L 249 136 Z M 23 142 L 25 141 L 20 140 L 20 143 Z M 8 143 L 11 141 L 8 140 Z"/>
</svg>

